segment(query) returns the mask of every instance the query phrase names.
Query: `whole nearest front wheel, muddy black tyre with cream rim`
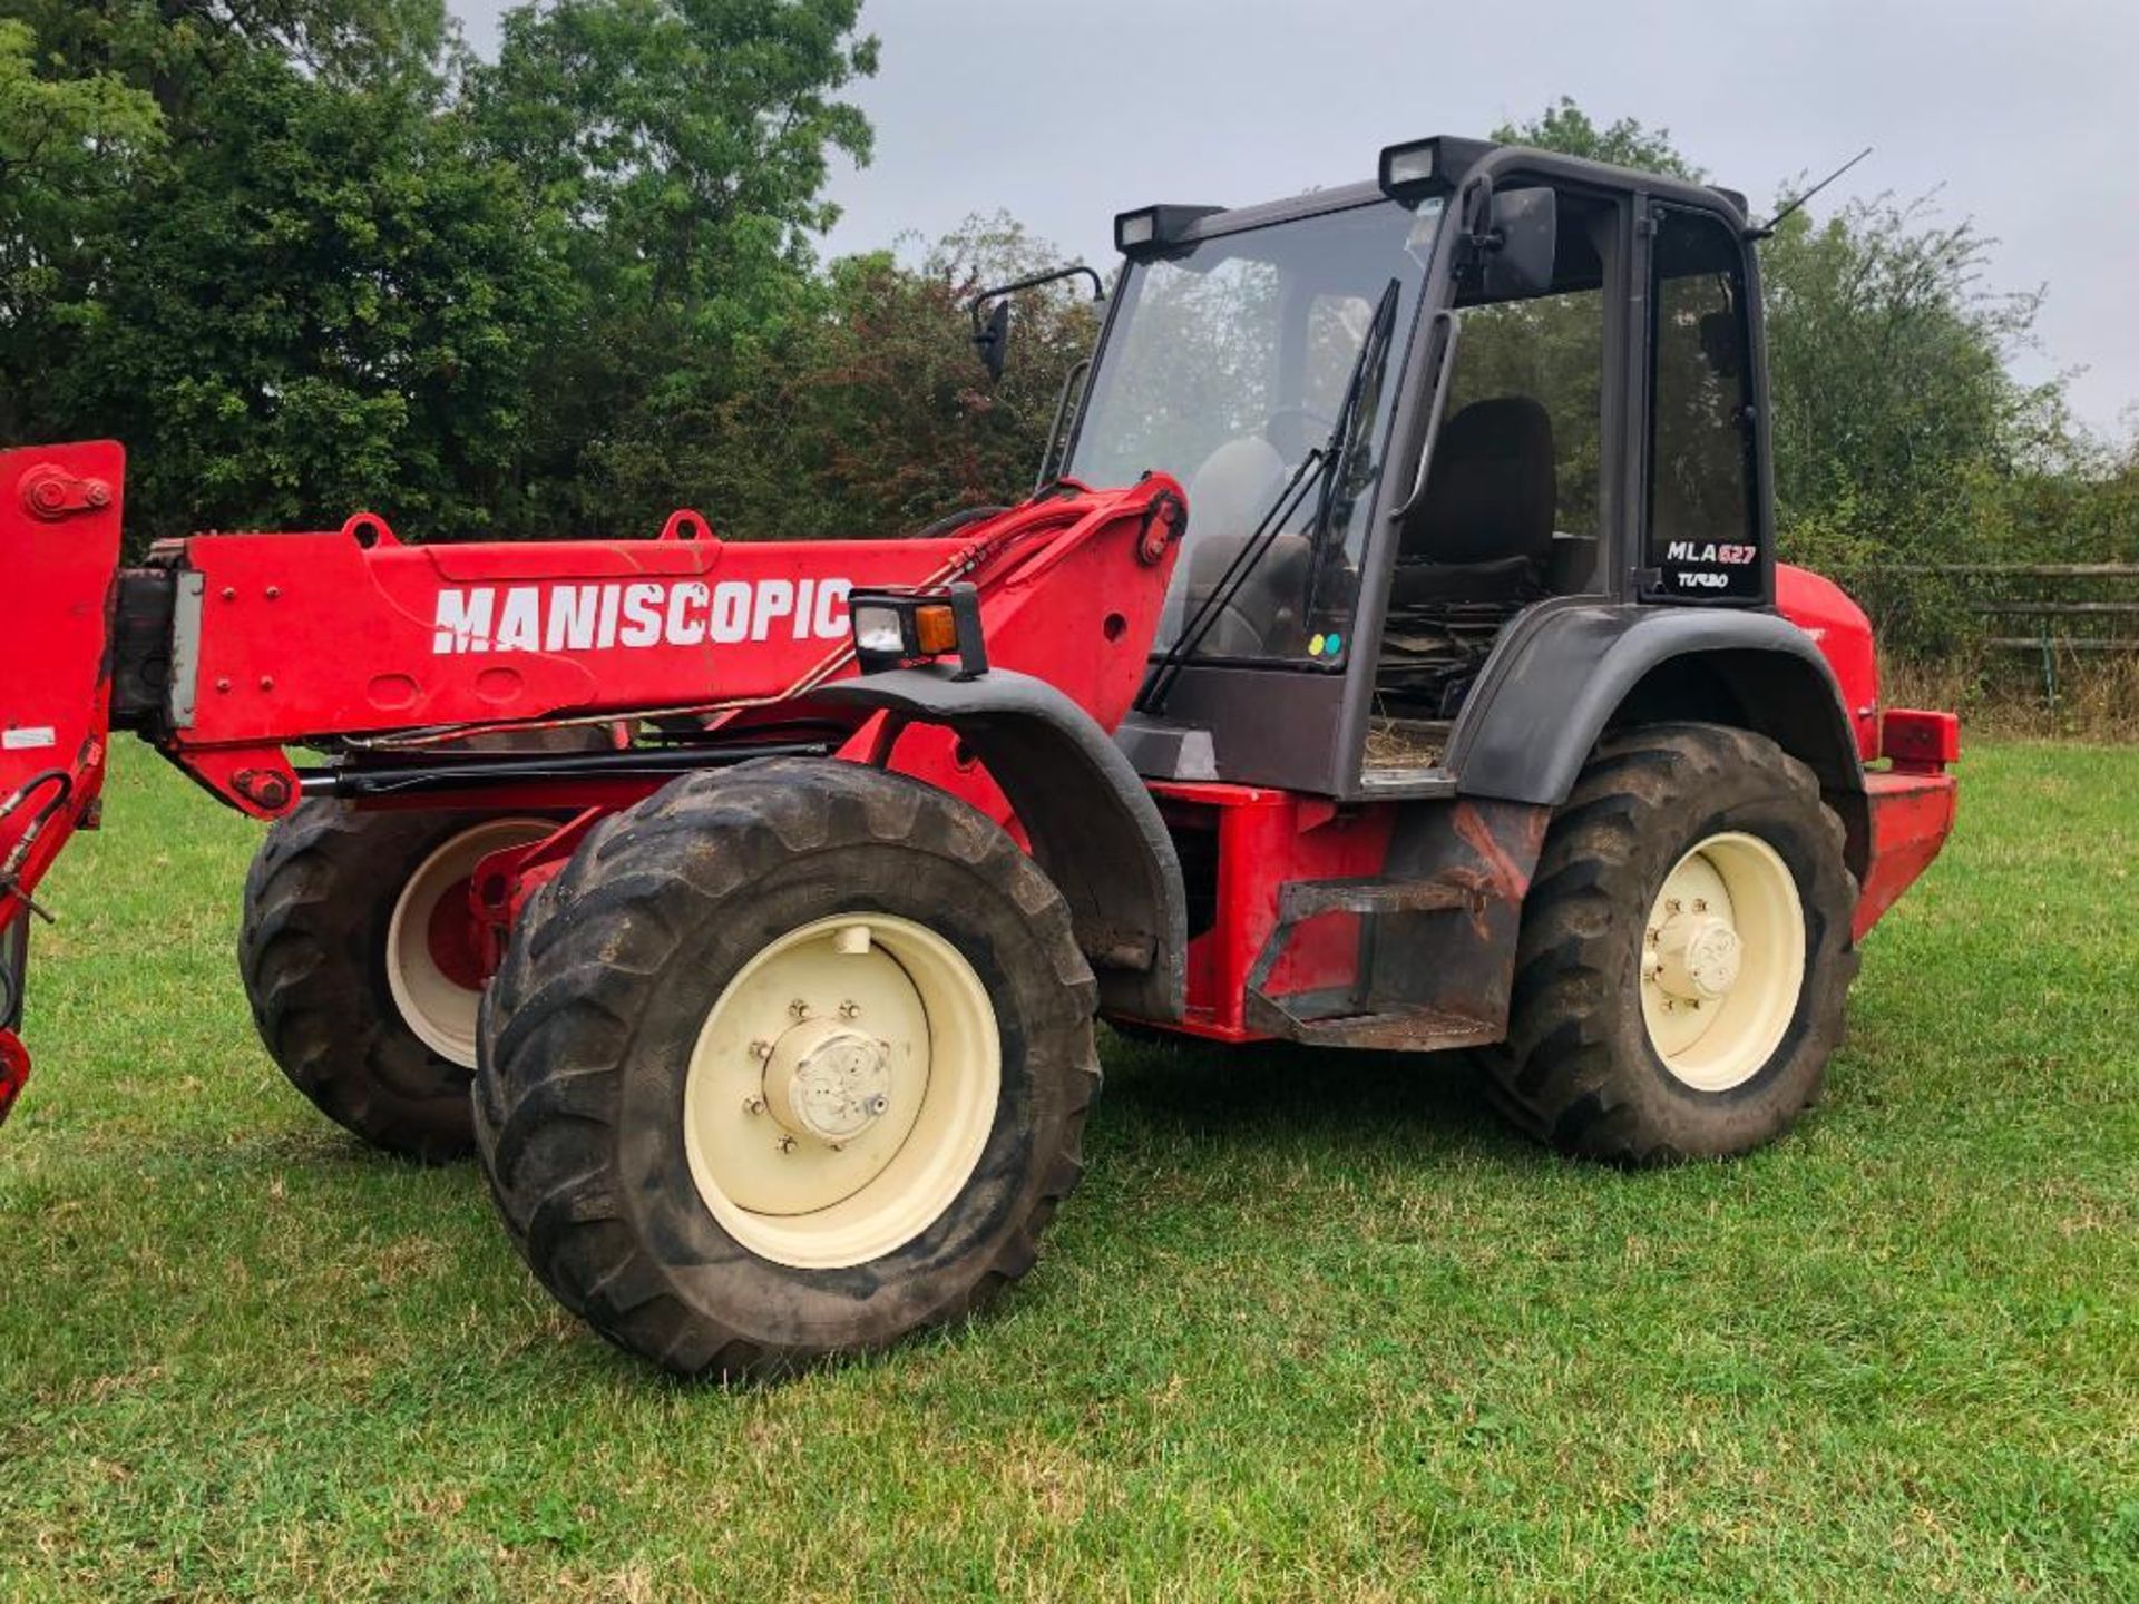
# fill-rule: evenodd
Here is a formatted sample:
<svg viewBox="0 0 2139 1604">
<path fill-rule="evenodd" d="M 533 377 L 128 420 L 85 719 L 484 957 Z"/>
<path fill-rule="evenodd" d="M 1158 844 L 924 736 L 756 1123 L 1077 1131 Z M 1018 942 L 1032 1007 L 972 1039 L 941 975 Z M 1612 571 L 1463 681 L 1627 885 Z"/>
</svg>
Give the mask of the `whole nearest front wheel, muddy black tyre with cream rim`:
<svg viewBox="0 0 2139 1604">
<path fill-rule="evenodd" d="M 483 999 L 477 1151 L 535 1275 L 682 1375 L 958 1320 L 1080 1174 L 1095 986 L 967 804 L 770 761 L 672 783 L 543 888 Z"/>
</svg>

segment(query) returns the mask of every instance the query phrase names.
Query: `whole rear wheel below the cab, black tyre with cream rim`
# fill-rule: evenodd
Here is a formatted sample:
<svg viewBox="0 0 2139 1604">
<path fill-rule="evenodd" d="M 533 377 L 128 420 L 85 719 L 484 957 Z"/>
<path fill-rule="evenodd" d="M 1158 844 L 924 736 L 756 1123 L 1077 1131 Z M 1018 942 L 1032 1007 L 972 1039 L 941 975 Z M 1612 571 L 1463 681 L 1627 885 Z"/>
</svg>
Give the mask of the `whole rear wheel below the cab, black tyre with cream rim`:
<svg viewBox="0 0 2139 1604">
<path fill-rule="evenodd" d="M 1818 781 L 1760 736 L 1645 725 L 1598 744 L 1523 905 L 1495 1101 L 1566 1153 L 1748 1153 L 1842 1042 L 1857 883 Z"/>
</svg>

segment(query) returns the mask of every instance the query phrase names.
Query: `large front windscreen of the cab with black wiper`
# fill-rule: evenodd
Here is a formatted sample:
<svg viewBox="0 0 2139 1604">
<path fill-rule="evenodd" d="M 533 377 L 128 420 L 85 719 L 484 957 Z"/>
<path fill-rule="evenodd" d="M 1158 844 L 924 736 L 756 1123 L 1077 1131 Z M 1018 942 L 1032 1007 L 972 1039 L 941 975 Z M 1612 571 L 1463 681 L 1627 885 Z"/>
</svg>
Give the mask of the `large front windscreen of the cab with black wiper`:
<svg viewBox="0 0 2139 1604">
<path fill-rule="evenodd" d="M 1301 464 L 1335 447 L 1341 473 L 1296 496 L 1198 654 L 1343 661 L 1397 391 L 1390 368 L 1418 310 L 1437 220 L 1440 201 L 1412 210 L 1375 199 L 1217 235 L 1125 272 L 1067 473 L 1125 485 L 1157 468 L 1187 485 L 1189 535 L 1153 650 L 1224 595 L 1228 569 L 1238 573 L 1236 558 Z M 1384 312 L 1367 346 L 1390 287 L 1392 317 Z M 1371 372 L 1358 372 L 1363 349 Z M 1333 441 L 1354 374 L 1348 443 Z"/>
</svg>

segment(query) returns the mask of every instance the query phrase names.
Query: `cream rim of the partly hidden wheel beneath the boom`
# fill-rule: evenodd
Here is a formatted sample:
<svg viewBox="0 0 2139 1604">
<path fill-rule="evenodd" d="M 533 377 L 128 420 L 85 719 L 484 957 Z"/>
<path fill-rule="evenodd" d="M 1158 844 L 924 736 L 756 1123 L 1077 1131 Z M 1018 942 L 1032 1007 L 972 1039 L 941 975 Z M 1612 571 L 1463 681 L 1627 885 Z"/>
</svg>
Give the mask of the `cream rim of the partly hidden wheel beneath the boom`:
<svg viewBox="0 0 2139 1604">
<path fill-rule="evenodd" d="M 447 1063 L 475 1067 L 475 1014 L 483 1001 L 473 952 L 456 952 L 458 909 L 449 896 L 466 896 L 475 866 L 494 851 L 541 840 L 554 823 L 543 819 L 486 819 L 449 836 L 415 866 L 394 900 L 387 922 L 387 990 L 415 1037 Z"/>
</svg>

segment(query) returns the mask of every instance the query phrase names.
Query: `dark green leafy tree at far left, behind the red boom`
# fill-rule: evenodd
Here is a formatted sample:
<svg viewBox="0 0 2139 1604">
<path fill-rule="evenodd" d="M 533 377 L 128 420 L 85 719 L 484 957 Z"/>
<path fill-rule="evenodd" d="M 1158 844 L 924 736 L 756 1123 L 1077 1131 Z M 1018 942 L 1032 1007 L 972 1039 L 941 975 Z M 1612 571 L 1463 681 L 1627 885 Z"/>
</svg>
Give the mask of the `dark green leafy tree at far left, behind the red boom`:
<svg viewBox="0 0 2139 1604">
<path fill-rule="evenodd" d="M 11 218 L 73 255 L 11 434 L 118 434 L 128 535 L 338 522 L 488 528 L 545 261 L 511 173 L 451 111 L 438 0 L 17 6 L 47 98 L 152 120 L 92 220 Z M 56 334 L 53 334 L 56 331 Z"/>
</svg>

